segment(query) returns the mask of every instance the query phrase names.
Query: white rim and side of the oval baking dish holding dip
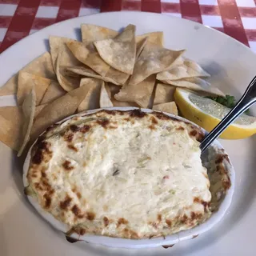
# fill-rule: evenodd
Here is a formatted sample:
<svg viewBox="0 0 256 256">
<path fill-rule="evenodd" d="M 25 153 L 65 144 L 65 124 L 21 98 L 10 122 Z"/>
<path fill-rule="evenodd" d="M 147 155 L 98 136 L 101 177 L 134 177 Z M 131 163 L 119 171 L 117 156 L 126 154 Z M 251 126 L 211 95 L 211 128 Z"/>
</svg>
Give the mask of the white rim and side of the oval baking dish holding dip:
<svg viewBox="0 0 256 256">
<path fill-rule="evenodd" d="M 137 108 L 135 108 L 135 107 L 112 107 L 112 108 L 108 108 L 107 110 L 126 111 L 126 110 L 134 110 L 134 109 L 137 109 Z M 102 109 L 88 110 L 86 112 L 74 114 L 68 118 L 63 119 L 60 122 L 68 120 L 71 117 L 74 117 L 76 115 L 92 114 L 92 113 L 98 112 L 99 110 L 102 110 Z M 150 113 L 153 111 L 153 110 L 148 110 L 148 109 L 141 109 L 141 110 L 146 113 Z M 174 116 L 173 114 L 168 114 L 168 113 L 164 113 L 164 114 L 166 114 L 170 117 L 178 118 L 179 120 L 182 120 L 185 122 L 190 122 L 190 121 L 186 120 L 185 118 L 177 117 L 177 116 Z M 193 122 L 190 122 L 190 123 L 194 124 Z M 194 124 L 194 126 L 197 126 L 197 125 Z M 207 133 L 205 130 L 204 130 L 204 132 Z M 224 150 L 222 145 L 218 141 L 215 141 L 213 143 L 213 146 L 215 146 L 219 150 Z M 32 148 L 32 146 L 31 146 L 31 148 Z M 26 157 L 26 160 L 25 160 L 24 166 L 23 166 L 24 186 L 29 185 L 27 182 L 27 179 L 26 179 L 26 174 L 27 174 L 27 171 L 28 171 L 28 168 L 30 165 L 31 148 L 27 154 L 27 157 Z M 225 153 L 225 151 L 223 153 Z M 157 247 L 157 246 L 163 246 L 163 245 L 174 245 L 177 242 L 194 238 L 194 237 L 198 236 L 198 234 L 202 234 L 202 233 L 206 232 L 207 230 L 210 230 L 215 224 L 217 224 L 221 220 L 221 218 L 224 216 L 224 214 L 226 213 L 226 210 L 228 209 L 228 207 L 230 206 L 231 199 L 234 194 L 234 168 L 230 164 L 230 162 L 228 162 L 226 159 L 224 161 L 225 161 L 224 163 L 226 166 L 226 170 L 228 171 L 228 174 L 230 176 L 230 182 L 231 182 L 230 189 L 227 190 L 225 198 L 220 203 L 218 211 L 214 212 L 211 215 L 211 217 L 206 220 L 206 222 L 204 222 L 198 226 L 195 226 L 194 228 L 192 228 L 190 230 L 184 230 L 184 231 L 178 232 L 176 234 L 171 234 L 171 235 L 166 236 L 165 238 L 160 237 L 160 238 L 151 238 L 151 239 L 110 238 L 110 237 L 106 237 L 106 236 L 88 235 L 88 234 L 87 235 L 85 234 L 82 236 L 78 236 L 78 234 L 72 234 L 71 237 L 85 241 L 85 242 L 100 244 L 103 246 L 118 247 L 118 248 L 150 248 L 150 247 Z M 30 201 L 32 206 L 34 206 L 34 208 L 38 211 L 38 213 L 42 216 L 42 218 L 46 219 L 47 222 L 50 222 L 50 224 L 52 226 L 54 226 L 55 229 L 60 230 L 63 233 L 66 233 L 68 230 L 70 230 L 69 226 L 67 226 L 66 224 L 64 224 L 62 222 L 59 222 L 51 214 L 47 213 L 45 210 L 42 210 L 41 206 L 38 204 L 38 202 L 36 201 L 35 198 L 32 198 L 29 196 L 28 200 Z"/>
</svg>

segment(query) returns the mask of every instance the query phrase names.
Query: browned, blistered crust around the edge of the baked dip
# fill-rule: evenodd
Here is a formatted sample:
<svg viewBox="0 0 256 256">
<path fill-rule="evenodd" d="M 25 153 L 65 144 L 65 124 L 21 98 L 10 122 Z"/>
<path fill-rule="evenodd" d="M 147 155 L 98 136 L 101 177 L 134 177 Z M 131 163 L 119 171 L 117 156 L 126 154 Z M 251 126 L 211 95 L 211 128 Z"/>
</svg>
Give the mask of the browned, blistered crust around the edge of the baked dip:
<svg viewBox="0 0 256 256">
<path fill-rule="evenodd" d="M 82 116 L 82 115 L 80 115 Z M 55 190 L 54 187 L 50 185 L 49 177 L 46 175 L 46 170 L 49 167 L 49 163 L 51 158 L 53 157 L 52 145 L 50 144 L 48 138 L 52 136 L 61 136 L 66 141 L 66 146 L 69 150 L 77 152 L 79 149 L 74 145 L 73 138 L 75 134 L 84 135 L 90 130 L 94 129 L 94 126 L 102 126 L 106 130 L 115 130 L 118 126 L 118 123 L 115 121 L 116 118 L 113 117 L 121 117 L 122 122 L 135 122 L 138 119 L 147 119 L 150 120 L 148 122 L 147 128 L 150 130 L 158 129 L 158 125 L 162 124 L 162 122 L 175 122 L 178 123 L 176 127 L 177 130 L 187 130 L 188 134 L 191 138 L 196 138 L 198 142 L 201 142 L 204 138 L 204 134 L 198 126 L 194 126 L 190 124 L 190 122 L 180 121 L 178 118 L 169 117 L 166 114 L 162 114 L 159 112 L 145 113 L 141 110 L 129 110 L 129 111 L 119 111 L 119 110 L 101 110 L 94 114 L 86 114 L 86 118 L 94 119 L 88 123 L 80 123 L 79 118 L 75 116 L 71 118 L 69 121 L 69 125 L 62 128 L 62 123 L 59 123 L 54 126 L 50 126 L 35 142 L 32 150 L 31 150 L 31 159 L 30 159 L 30 167 L 27 173 L 27 180 L 30 184 L 30 189 L 34 191 L 34 193 L 38 198 L 38 203 L 42 208 L 51 213 L 52 211 L 52 198 L 54 197 Z M 229 158 L 223 152 L 218 152 L 217 157 L 214 160 L 215 166 L 210 169 L 210 179 L 213 180 L 222 180 L 220 184 L 215 182 L 214 189 L 211 191 L 213 193 L 213 203 L 210 204 L 212 210 L 218 209 L 218 202 L 220 202 L 223 198 L 223 194 L 226 193 L 226 190 L 230 188 L 230 178 L 228 172 L 226 170 L 225 164 L 223 161 L 229 161 Z M 59 166 L 66 170 L 68 174 L 73 170 L 74 166 L 72 166 L 71 162 L 66 160 L 62 163 L 62 166 Z M 209 168 L 209 166 L 207 166 Z M 118 170 L 117 170 L 118 171 Z M 118 174 L 118 173 L 117 173 Z M 58 178 L 58 173 L 56 175 L 56 179 Z M 54 176 L 51 176 L 54 179 Z M 217 184 L 217 185 L 216 185 Z M 215 187 L 216 186 L 216 187 Z M 218 187 L 217 187 L 218 186 Z M 111 216 L 98 216 L 98 212 L 93 208 L 86 210 L 82 210 L 79 205 L 86 205 L 86 198 L 82 197 L 81 191 L 78 190 L 76 186 L 72 187 L 72 191 L 75 194 L 74 196 L 70 196 L 66 194 L 64 198 L 60 198 L 58 204 L 58 216 L 54 216 L 58 218 L 61 222 L 66 222 L 66 218 L 72 219 L 73 225 L 70 226 L 70 231 L 67 233 L 67 236 L 70 236 L 72 233 L 77 233 L 80 235 L 83 234 L 102 234 L 102 230 L 106 229 L 109 225 L 114 225 L 114 228 L 118 230 L 114 235 L 111 233 L 104 233 L 104 235 L 114 236 L 119 238 L 152 238 L 157 236 L 162 236 L 169 234 L 168 229 L 171 229 L 173 226 L 178 225 L 178 223 L 183 222 L 186 223 L 186 226 L 195 226 L 196 222 L 203 222 L 203 219 L 206 218 L 202 214 L 198 215 L 196 213 L 192 213 L 190 216 L 177 216 L 176 219 L 163 219 L 161 214 L 158 214 L 157 218 L 154 222 L 149 222 L 149 226 L 154 226 L 156 232 L 153 232 L 150 235 L 141 236 L 138 232 L 130 229 L 130 221 L 129 219 L 122 218 L 111 218 Z M 219 193 L 222 193 L 220 195 Z M 209 212 L 209 203 L 203 202 L 201 198 L 194 198 L 194 202 L 200 203 L 205 207 L 205 212 Z M 56 207 L 56 206 L 54 206 Z M 104 207 L 108 207 L 107 205 Z M 165 232 L 158 232 L 158 225 L 165 226 Z M 164 224 L 162 224 L 164 223 Z M 66 222 L 69 225 L 69 222 Z"/>
</svg>

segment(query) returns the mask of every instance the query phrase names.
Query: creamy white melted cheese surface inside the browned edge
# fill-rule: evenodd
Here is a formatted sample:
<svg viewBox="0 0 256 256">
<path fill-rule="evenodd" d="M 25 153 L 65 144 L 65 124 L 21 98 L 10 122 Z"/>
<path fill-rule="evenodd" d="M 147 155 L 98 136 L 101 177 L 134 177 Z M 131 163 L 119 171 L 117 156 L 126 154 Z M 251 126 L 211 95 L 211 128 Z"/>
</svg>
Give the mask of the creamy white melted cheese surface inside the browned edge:
<svg viewBox="0 0 256 256">
<path fill-rule="evenodd" d="M 129 121 L 126 115 L 106 118 L 110 120 L 107 127 L 95 118 L 86 122 L 90 126 L 86 133 L 72 133 L 73 149 L 64 136 L 46 138 L 53 152 L 45 170 L 54 189 L 50 213 L 70 226 L 82 224 L 89 233 L 111 236 L 123 236 L 125 227 L 142 238 L 197 225 L 180 220 L 185 215 L 191 218 L 192 213 L 205 214 L 203 204 L 194 198 L 210 202 L 210 182 L 199 142 L 190 136 L 186 125 L 157 120 L 152 126 L 150 114 Z M 78 128 L 84 125 L 80 122 Z M 178 129 L 181 126 L 183 129 Z M 63 167 L 65 162 L 68 168 Z M 42 203 L 43 192 L 37 190 L 37 194 Z M 63 211 L 60 202 L 67 195 L 71 202 Z M 74 205 L 79 218 L 71 210 Z M 86 218 L 88 212 L 94 213 L 93 221 Z M 110 223 L 104 226 L 103 218 Z M 118 224 L 120 218 L 125 222 Z"/>
</svg>

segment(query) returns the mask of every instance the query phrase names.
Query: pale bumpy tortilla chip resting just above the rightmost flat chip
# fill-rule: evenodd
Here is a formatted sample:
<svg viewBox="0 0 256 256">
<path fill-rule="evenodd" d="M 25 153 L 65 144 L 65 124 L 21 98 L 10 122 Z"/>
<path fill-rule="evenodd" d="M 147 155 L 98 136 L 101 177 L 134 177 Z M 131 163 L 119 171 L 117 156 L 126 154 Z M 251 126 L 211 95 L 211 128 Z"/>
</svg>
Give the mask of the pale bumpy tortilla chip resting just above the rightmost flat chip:
<svg viewBox="0 0 256 256">
<path fill-rule="evenodd" d="M 208 78 L 208 74 L 198 63 L 185 60 L 180 66 L 174 66 L 170 70 L 158 73 L 158 80 L 179 80 L 182 78 Z"/>
</svg>

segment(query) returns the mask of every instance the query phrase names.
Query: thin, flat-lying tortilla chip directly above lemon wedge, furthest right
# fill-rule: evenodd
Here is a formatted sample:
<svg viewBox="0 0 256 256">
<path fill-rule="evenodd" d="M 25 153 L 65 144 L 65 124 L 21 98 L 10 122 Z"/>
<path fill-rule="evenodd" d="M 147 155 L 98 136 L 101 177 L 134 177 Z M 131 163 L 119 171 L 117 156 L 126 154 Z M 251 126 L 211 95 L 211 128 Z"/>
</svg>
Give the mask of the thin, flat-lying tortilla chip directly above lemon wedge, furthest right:
<svg viewBox="0 0 256 256">
<path fill-rule="evenodd" d="M 225 96 L 221 90 L 216 87 L 210 87 L 210 83 L 201 78 L 184 78 L 182 80 L 166 80 L 162 81 L 172 86 L 185 87 L 190 90 L 199 90 L 209 94 Z"/>
</svg>

